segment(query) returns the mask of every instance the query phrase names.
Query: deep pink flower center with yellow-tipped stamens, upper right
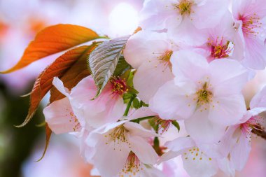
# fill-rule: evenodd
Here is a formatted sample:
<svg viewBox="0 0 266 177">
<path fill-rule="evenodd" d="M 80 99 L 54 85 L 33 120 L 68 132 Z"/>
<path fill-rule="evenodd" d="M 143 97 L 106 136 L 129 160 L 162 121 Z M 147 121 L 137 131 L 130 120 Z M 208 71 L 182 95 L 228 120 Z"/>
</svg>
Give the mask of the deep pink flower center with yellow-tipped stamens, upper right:
<svg viewBox="0 0 266 177">
<path fill-rule="evenodd" d="M 229 57 L 232 48 L 230 48 L 230 41 L 223 43 L 223 37 L 221 41 L 218 41 L 218 37 L 216 41 L 211 41 L 208 39 L 208 45 L 211 46 L 211 57 L 216 58 L 226 58 Z"/>
</svg>

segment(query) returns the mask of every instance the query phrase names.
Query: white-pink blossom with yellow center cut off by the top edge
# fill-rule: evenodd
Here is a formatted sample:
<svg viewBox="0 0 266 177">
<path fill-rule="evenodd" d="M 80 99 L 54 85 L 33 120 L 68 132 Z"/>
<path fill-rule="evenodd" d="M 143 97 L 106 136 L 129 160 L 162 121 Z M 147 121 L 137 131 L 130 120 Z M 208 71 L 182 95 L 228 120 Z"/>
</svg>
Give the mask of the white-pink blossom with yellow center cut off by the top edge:
<svg viewBox="0 0 266 177">
<path fill-rule="evenodd" d="M 221 20 L 228 1 L 219 0 L 153 0 L 146 1 L 141 11 L 140 26 L 144 29 L 168 29 L 174 38 L 199 42 L 198 29 L 215 27 Z"/>
</svg>

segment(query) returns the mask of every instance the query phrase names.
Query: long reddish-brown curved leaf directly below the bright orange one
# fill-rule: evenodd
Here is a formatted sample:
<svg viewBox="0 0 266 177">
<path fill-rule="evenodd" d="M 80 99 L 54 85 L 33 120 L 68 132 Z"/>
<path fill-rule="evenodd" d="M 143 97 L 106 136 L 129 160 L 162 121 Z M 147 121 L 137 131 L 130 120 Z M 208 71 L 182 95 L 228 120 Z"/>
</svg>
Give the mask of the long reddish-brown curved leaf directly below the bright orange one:
<svg viewBox="0 0 266 177">
<path fill-rule="evenodd" d="M 43 99 L 45 94 L 52 88 L 52 79 L 54 77 L 64 76 L 64 73 L 66 73 L 66 71 L 68 71 L 68 69 L 80 59 L 80 57 L 83 57 L 88 48 L 90 50 L 90 46 L 85 45 L 69 50 L 64 53 L 64 55 L 58 57 L 55 62 L 50 64 L 50 66 L 38 76 L 31 91 L 29 113 L 25 118 L 25 121 L 17 127 L 23 127 L 29 122 L 29 120 L 31 120 L 41 99 Z"/>
</svg>

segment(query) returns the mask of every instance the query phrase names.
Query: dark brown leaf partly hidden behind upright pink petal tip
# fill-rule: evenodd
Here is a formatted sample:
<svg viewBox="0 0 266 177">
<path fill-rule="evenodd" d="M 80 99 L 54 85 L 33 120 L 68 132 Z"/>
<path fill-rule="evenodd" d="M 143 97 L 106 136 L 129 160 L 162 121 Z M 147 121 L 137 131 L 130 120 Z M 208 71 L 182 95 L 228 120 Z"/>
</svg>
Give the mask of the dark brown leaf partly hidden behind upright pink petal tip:
<svg viewBox="0 0 266 177">
<path fill-rule="evenodd" d="M 78 59 L 78 61 L 73 64 L 66 73 L 64 73 L 64 76 L 62 76 L 60 79 L 64 83 L 64 87 L 71 90 L 73 87 L 75 87 L 80 80 L 83 78 L 90 76 L 91 72 L 89 69 L 87 69 L 87 57 L 90 55 L 90 52 L 92 52 L 100 42 L 95 42 L 90 45 L 90 48 L 87 49 L 87 52 Z M 64 94 L 61 94 L 55 86 L 52 86 L 52 89 L 50 90 L 50 103 L 52 103 L 55 100 L 64 98 Z"/>
</svg>

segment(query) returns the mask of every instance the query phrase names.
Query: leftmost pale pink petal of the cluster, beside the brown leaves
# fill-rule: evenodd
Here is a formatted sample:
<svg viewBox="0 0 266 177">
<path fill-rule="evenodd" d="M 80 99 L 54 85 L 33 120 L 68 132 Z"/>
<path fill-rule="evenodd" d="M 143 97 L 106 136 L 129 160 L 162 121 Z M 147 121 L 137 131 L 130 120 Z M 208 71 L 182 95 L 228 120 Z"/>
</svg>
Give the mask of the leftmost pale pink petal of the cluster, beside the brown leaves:
<svg viewBox="0 0 266 177">
<path fill-rule="evenodd" d="M 80 130 L 79 122 L 73 114 L 68 98 L 52 102 L 43 109 L 45 121 L 55 134 L 76 132 Z"/>
</svg>

